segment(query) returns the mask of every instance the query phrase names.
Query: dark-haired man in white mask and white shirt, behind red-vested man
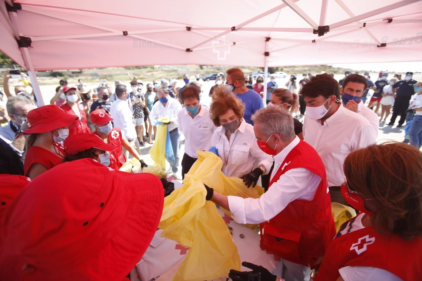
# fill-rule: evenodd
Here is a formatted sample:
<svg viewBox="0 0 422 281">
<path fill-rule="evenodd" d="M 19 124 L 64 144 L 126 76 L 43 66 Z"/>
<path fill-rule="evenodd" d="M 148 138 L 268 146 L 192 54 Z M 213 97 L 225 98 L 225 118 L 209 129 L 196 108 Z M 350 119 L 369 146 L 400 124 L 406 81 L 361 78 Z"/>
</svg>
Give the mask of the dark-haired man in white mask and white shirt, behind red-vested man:
<svg viewBox="0 0 422 281">
<path fill-rule="evenodd" d="M 306 102 L 303 138 L 324 162 L 331 201 L 348 205 L 340 191 L 344 158 L 352 150 L 376 142 L 373 127 L 365 117 L 343 106 L 338 83 L 328 74 L 314 76 L 301 94 Z"/>
</svg>

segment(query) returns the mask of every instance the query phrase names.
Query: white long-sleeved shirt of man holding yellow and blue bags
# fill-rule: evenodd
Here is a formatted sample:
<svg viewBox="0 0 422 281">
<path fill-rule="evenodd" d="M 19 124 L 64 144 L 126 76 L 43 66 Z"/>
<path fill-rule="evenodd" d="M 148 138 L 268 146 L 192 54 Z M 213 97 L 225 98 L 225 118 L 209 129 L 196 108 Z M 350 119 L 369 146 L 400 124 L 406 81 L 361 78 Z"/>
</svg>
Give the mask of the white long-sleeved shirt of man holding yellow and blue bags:
<svg viewBox="0 0 422 281">
<path fill-rule="evenodd" d="M 162 117 L 168 117 L 170 118 L 170 124 L 168 124 L 168 131 L 172 131 L 176 129 L 179 126 L 179 122 L 177 120 L 177 114 L 182 109 L 182 106 L 180 102 L 177 99 L 173 99 L 170 96 L 167 96 L 168 101 L 165 104 L 162 104 L 162 102 L 158 101 L 156 102 L 152 108 L 151 112 L 149 112 L 149 119 L 151 122 L 155 125 L 157 124 L 157 118 L 158 116 Z"/>
</svg>

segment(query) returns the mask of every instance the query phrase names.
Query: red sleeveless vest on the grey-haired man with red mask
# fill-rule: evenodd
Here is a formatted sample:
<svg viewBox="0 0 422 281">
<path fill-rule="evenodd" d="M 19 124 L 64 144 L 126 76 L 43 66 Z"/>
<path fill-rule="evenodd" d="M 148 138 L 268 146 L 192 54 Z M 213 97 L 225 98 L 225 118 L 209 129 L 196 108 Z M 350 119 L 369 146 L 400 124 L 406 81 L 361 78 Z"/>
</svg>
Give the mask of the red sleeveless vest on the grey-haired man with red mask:
<svg viewBox="0 0 422 281">
<path fill-rule="evenodd" d="M 335 236 L 335 225 L 325 166 L 315 149 L 300 140 L 271 179 L 269 188 L 282 174 L 295 168 L 317 174 L 321 183 L 312 201 L 292 201 L 275 217 L 260 224 L 261 248 L 284 260 L 318 268 Z"/>
</svg>

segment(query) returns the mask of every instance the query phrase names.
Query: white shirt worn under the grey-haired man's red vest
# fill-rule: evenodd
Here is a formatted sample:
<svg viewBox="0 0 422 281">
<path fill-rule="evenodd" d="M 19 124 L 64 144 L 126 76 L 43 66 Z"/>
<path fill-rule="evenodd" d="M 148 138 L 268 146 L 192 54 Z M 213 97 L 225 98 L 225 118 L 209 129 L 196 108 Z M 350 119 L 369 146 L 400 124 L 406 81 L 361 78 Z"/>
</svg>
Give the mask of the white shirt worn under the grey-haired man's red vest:
<svg viewBox="0 0 422 281">
<path fill-rule="evenodd" d="M 298 136 L 274 156 L 274 169 L 271 179 L 275 176 L 287 155 L 298 145 Z M 288 165 L 288 164 L 287 164 Z M 287 166 L 284 165 L 284 166 Z M 233 219 L 239 223 L 261 223 L 272 219 L 296 200 L 311 201 L 317 192 L 321 177 L 305 168 L 295 168 L 282 174 L 268 191 L 260 198 L 241 198 L 227 196 Z M 328 193 L 328 188 L 327 188 Z"/>
</svg>

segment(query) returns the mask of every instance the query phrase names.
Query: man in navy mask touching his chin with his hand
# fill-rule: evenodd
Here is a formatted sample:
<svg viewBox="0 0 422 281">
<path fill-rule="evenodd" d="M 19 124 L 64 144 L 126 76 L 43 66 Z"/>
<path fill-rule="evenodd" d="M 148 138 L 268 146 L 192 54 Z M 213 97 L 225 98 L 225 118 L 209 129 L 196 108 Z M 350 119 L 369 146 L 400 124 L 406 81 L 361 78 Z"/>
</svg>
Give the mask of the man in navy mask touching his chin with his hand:
<svg viewBox="0 0 422 281">
<path fill-rule="evenodd" d="M 340 87 L 341 100 L 344 107 L 362 115 L 369 121 L 376 139 L 379 131 L 378 114 L 366 107 L 361 99 L 367 87 L 368 84 L 365 77 L 359 74 L 351 74 L 344 78 L 343 86 Z"/>
</svg>

